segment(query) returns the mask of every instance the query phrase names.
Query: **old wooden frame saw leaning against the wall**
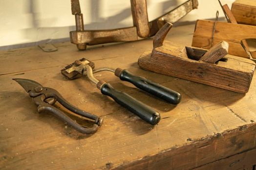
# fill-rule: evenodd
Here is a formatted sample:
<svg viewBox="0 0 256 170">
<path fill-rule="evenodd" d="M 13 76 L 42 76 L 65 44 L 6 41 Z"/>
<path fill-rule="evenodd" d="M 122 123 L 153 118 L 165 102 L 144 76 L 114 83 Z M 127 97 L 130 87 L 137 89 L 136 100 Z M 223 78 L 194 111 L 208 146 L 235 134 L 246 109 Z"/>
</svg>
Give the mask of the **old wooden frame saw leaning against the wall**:
<svg viewBox="0 0 256 170">
<path fill-rule="evenodd" d="M 197 8 L 197 0 L 187 0 L 169 13 L 149 22 L 146 0 L 130 0 L 133 27 L 112 30 L 84 30 L 84 19 L 79 0 L 71 0 L 72 15 L 75 15 L 76 31 L 70 32 L 70 41 L 79 50 L 85 50 L 86 45 L 110 42 L 136 41 L 153 36 L 166 23 L 174 23 Z"/>
</svg>

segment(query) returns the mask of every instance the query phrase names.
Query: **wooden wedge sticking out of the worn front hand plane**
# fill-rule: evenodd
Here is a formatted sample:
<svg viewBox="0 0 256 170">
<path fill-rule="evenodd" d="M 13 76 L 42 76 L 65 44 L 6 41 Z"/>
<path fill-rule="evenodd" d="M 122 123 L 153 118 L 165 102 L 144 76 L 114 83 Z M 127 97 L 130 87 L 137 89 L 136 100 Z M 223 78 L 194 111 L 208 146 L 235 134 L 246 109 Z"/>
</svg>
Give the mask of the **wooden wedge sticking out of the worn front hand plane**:
<svg viewBox="0 0 256 170">
<path fill-rule="evenodd" d="M 218 44 L 213 46 L 209 51 L 207 51 L 200 61 L 208 63 L 216 63 L 222 57 L 226 56 L 229 51 L 229 44 L 226 41 L 220 41 Z"/>
</svg>

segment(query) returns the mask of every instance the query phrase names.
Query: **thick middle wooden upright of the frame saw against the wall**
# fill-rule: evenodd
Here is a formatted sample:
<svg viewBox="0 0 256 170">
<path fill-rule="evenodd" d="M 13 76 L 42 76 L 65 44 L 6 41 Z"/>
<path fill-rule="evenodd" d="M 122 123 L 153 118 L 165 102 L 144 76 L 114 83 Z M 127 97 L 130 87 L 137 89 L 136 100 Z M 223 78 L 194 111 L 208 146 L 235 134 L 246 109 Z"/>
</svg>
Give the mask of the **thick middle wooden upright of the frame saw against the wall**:
<svg viewBox="0 0 256 170">
<path fill-rule="evenodd" d="M 139 37 L 149 35 L 149 19 L 146 0 L 130 0 L 133 26 L 137 28 Z"/>
</svg>

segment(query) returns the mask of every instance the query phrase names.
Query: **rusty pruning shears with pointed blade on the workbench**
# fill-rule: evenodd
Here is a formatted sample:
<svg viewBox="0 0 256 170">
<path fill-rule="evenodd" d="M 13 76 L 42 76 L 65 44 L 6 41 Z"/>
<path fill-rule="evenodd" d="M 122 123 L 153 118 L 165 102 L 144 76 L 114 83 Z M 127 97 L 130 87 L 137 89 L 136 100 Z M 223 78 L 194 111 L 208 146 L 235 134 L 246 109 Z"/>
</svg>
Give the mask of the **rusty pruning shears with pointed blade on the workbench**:
<svg viewBox="0 0 256 170">
<path fill-rule="evenodd" d="M 40 85 L 39 83 L 33 80 L 18 79 L 18 78 L 13 80 L 19 83 L 26 90 L 26 92 L 28 92 L 33 102 L 35 102 L 36 105 L 38 105 L 38 113 L 41 113 L 44 111 L 47 113 L 51 113 L 52 115 L 56 116 L 59 119 L 62 119 L 71 127 L 73 127 L 75 130 L 83 134 L 93 134 L 101 126 L 103 121 L 102 118 L 99 118 L 96 115 L 89 114 L 71 105 L 60 95 L 60 93 L 57 90 L 50 87 L 44 87 L 43 85 Z M 86 119 L 90 119 L 94 121 L 95 124 L 93 124 L 93 126 L 90 128 L 85 128 L 81 126 L 76 121 L 66 116 L 61 110 L 54 107 L 53 104 L 56 101 L 60 102 L 65 108 L 67 108 L 74 114 L 80 115 Z"/>
</svg>

